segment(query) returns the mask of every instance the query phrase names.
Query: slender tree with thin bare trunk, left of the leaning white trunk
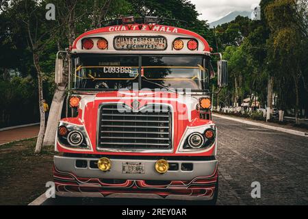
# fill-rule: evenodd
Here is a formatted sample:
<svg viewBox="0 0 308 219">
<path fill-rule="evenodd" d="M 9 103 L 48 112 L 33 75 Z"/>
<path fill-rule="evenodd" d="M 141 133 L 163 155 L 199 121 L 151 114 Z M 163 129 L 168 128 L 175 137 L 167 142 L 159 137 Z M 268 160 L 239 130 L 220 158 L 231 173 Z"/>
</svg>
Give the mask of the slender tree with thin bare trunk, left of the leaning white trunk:
<svg viewBox="0 0 308 219">
<path fill-rule="evenodd" d="M 38 133 L 38 140 L 36 142 L 35 153 L 40 153 L 42 148 L 42 141 L 45 132 L 45 113 L 43 107 L 43 78 L 44 73 L 40 65 L 40 57 L 44 54 L 47 44 L 55 36 L 57 27 L 53 27 L 48 23 L 45 17 L 44 2 L 37 2 L 31 0 L 12 1 L 12 11 L 16 16 L 16 21 L 22 21 L 27 33 L 25 39 L 27 40 L 28 48 L 32 53 L 33 63 L 36 68 L 38 78 L 38 105 L 40 109 L 40 131 Z M 20 23 L 15 23 L 16 29 L 21 28 Z"/>
</svg>

